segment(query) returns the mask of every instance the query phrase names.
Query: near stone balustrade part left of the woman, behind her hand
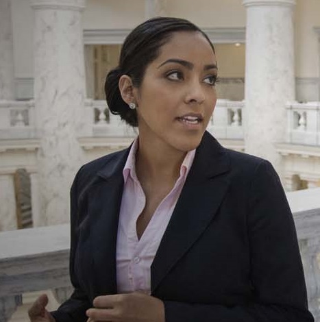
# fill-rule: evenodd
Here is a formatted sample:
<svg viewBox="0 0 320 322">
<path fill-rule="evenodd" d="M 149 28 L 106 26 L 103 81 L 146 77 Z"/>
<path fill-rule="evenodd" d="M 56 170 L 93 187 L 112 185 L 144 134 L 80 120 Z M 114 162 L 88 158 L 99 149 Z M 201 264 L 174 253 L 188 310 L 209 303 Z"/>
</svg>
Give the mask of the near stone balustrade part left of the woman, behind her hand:
<svg viewBox="0 0 320 322">
<path fill-rule="evenodd" d="M 21 295 L 53 289 L 58 302 L 71 294 L 69 225 L 0 233 L 0 321 L 8 321 Z"/>
</svg>

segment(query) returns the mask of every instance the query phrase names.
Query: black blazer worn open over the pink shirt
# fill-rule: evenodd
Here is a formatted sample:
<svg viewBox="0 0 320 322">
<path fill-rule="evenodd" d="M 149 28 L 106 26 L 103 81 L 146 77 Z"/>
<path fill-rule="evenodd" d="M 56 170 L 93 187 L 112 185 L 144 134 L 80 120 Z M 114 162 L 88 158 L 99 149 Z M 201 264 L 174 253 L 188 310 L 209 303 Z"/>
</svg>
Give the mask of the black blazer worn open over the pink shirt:
<svg viewBox="0 0 320 322">
<path fill-rule="evenodd" d="M 71 299 L 59 322 L 86 321 L 116 293 L 116 233 L 129 149 L 90 162 L 71 188 Z M 313 321 L 293 217 L 269 162 L 204 134 L 151 266 L 166 322 Z"/>
</svg>

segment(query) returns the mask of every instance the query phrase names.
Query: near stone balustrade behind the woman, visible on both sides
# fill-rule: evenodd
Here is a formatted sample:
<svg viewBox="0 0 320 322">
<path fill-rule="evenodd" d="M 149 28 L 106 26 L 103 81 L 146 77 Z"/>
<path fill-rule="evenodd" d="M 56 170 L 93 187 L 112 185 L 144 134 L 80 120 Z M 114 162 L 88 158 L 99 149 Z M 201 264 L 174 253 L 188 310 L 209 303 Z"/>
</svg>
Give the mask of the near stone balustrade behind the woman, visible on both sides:
<svg viewBox="0 0 320 322">
<path fill-rule="evenodd" d="M 310 310 L 320 321 L 320 188 L 287 193 L 304 263 Z M 61 303 L 71 293 L 69 224 L 0 232 L 0 321 L 10 319 L 21 294 L 53 289 Z"/>
</svg>

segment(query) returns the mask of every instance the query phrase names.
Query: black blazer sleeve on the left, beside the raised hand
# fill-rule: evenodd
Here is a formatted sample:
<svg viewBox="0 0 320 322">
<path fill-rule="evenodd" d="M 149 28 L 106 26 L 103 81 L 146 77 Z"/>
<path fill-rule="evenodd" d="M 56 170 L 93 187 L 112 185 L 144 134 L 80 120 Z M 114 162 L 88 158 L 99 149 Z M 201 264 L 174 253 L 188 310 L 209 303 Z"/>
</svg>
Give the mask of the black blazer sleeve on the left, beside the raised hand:
<svg viewBox="0 0 320 322">
<path fill-rule="evenodd" d="M 70 277 L 74 287 L 73 294 L 56 311 L 51 312 L 56 322 L 86 322 L 86 310 L 92 305 L 82 288 L 79 286 L 77 274 L 75 273 L 75 250 L 77 249 L 79 212 L 77 209 L 78 200 L 78 171 L 71 186 L 71 248 L 70 248 Z"/>
</svg>

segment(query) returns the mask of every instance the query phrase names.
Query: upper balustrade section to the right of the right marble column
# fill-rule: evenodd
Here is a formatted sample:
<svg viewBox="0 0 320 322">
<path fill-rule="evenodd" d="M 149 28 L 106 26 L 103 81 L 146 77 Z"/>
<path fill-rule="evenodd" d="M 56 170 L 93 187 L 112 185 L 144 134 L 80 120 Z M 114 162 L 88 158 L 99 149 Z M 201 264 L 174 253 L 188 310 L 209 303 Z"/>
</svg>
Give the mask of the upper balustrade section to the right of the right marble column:
<svg viewBox="0 0 320 322">
<path fill-rule="evenodd" d="M 320 102 L 288 103 L 287 141 L 300 145 L 320 145 Z"/>
</svg>

